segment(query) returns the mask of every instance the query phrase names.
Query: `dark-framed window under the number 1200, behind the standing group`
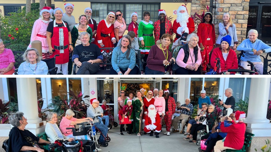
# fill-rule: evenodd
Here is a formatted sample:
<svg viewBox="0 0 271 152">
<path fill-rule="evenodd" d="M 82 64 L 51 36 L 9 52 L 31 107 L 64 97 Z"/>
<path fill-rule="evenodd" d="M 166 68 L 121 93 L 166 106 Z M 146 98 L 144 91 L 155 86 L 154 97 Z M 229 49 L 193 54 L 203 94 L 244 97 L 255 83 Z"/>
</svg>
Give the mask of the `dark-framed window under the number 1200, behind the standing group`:
<svg viewBox="0 0 271 152">
<path fill-rule="evenodd" d="M 137 22 L 139 23 L 143 20 L 142 16 L 145 11 L 150 12 L 150 21 L 154 23 L 159 19 L 160 3 L 91 3 L 91 9 L 92 18 L 96 20 L 97 24 L 106 18 L 108 12 L 116 12 L 116 10 L 121 10 L 126 25 L 131 23 L 131 14 L 133 12 L 137 12 Z"/>
</svg>

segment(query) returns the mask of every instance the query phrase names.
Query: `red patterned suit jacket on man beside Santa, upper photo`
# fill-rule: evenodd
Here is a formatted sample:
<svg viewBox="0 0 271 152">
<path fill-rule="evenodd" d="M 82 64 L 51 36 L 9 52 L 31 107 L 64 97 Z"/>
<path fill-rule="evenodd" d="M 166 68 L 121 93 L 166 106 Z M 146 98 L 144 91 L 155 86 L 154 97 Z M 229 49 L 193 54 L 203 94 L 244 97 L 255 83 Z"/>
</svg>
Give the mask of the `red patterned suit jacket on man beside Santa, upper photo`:
<svg viewBox="0 0 271 152">
<path fill-rule="evenodd" d="M 171 21 L 169 21 L 167 19 L 165 19 L 165 29 L 166 29 L 166 33 L 168 33 L 170 35 L 173 34 L 172 23 L 171 23 Z M 153 33 L 154 33 L 154 38 L 155 38 L 155 43 L 156 43 L 156 41 L 160 37 L 160 20 L 158 20 L 154 23 Z"/>
</svg>

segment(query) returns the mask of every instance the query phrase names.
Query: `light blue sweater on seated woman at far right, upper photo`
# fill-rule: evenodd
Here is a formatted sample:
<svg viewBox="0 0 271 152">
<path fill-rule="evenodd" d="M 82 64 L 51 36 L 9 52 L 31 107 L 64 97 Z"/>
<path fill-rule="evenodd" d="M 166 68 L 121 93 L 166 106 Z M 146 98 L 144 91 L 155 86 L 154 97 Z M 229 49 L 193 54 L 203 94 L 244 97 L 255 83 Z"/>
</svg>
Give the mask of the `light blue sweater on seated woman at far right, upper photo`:
<svg viewBox="0 0 271 152">
<path fill-rule="evenodd" d="M 238 51 L 244 51 L 244 57 L 241 56 L 241 61 L 261 62 L 260 56 L 254 55 L 251 50 L 265 50 L 265 53 L 271 52 L 271 47 L 263 43 L 263 41 L 256 39 L 256 42 L 252 43 L 249 39 L 245 39 L 238 47 Z"/>
</svg>

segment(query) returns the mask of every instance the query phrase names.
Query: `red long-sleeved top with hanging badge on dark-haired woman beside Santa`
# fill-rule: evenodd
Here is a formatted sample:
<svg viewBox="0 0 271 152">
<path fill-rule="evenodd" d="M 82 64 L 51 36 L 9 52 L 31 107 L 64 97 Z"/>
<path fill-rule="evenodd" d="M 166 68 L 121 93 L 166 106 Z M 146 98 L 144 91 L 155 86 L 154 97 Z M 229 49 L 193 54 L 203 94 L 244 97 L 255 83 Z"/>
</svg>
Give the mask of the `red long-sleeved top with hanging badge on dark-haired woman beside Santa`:
<svg viewBox="0 0 271 152">
<path fill-rule="evenodd" d="M 207 28 L 207 25 L 209 28 Z M 200 23 L 198 25 L 198 37 L 199 37 L 199 45 L 202 43 L 202 45 L 213 45 L 216 43 L 216 32 L 215 32 L 215 25 L 213 24 L 205 24 Z M 210 40 L 207 40 L 209 33 Z"/>
</svg>

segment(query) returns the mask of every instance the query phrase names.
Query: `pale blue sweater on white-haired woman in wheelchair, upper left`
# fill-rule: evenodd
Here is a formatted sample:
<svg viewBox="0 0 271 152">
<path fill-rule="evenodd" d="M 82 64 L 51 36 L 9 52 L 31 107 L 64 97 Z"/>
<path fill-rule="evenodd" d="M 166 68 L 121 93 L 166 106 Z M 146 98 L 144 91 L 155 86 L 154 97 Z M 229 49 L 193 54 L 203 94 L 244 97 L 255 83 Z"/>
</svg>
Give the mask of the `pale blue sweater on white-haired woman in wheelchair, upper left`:
<svg viewBox="0 0 271 152">
<path fill-rule="evenodd" d="M 44 61 L 40 61 L 38 64 L 37 64 L 37 68 L 36 68 L 36 64 L 29 64 L 25 62 L 21 63 L 21 65 L 19 66 L 19 69 L 18 69 L 18 74 L 19 75 L 34 75 L 33 71 L 31 70 L 34 70 L 35 71 L 35 74 L 36 75 L 46 75 L 48 74 L 48 67 L 46 65 L 46 63 Z M 35 70 L 36 68 L 36 70 Z"/>
</svg>

